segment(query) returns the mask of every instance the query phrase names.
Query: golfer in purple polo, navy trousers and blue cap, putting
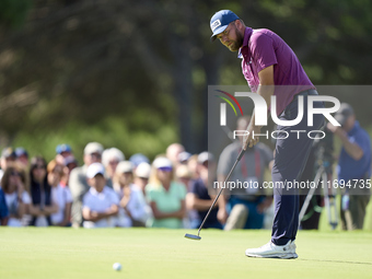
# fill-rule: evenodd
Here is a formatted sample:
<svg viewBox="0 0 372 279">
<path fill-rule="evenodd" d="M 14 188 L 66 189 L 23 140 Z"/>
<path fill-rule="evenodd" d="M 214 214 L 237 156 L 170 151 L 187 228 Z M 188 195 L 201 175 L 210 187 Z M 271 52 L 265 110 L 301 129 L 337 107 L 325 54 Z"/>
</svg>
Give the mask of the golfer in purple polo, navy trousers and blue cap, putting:
<svg viewBox="0 0 372 279">
<path fill-rule="evenodd" d="M 324 125 L 324 116 L 316 114 L 313 126 L 307 126 L 307 96 L 317 95 L 316 89 L 293 50 L 274 32 L 247 27 L 229 10 L 217 12 L 210 21 L 210 27 L 213 33 L 211 40 L 218 38 L 231 51 L 239 51 L 242 71 L 252 92 L 264 97 L 267 107 L 271 105 L 271 95 L 276 96 L 276 113 L 280 120 L 295 119 L 299 98 L 303 100 L 302 120 L 294 126 L 277 128 L 281 136 L 276 142 L 271 171 L 276 185 L 271 241 L 245 252 L 249 257 L 297 258 L 294 240 L 299 226 L 299 196 L 298 190 L 288 189 L 286 183 L 299 179 L 303 172 L 313 143 L 307 132 L 318 130 Z M 313 107 L 323 107 L 323 102 L 314 102 Z M 258 142 L 258 137 L 253 137 L 253 132 L 260 133 L 260 128 L 255 125 L 253 113 L 244 149 Z M 300 135 L 290 130 L 302 132 Z"/>
</svg>

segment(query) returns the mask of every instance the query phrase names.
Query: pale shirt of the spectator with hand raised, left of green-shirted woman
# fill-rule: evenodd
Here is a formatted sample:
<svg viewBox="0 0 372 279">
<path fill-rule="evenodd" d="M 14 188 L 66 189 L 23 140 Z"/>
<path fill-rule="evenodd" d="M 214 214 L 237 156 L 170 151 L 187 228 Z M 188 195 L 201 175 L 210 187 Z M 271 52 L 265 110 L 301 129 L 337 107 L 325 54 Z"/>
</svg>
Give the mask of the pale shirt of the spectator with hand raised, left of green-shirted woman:
<svg viewBox="0 0 372 279">
<path fill-rule="evenodd" d="M 146 207 L 148 206 L 146 199 L 143 197 L 142 191 L 135 185 L 130 186 L 130 199 L 127 205 L 127 210 L 130 212 L 131 217 L 137 220 L 146 223 L 147 212 Z M 118 195 L 118 198 L 121 199 L 124 197 L 124 190 L 119 187 L 115 187 L 115 191 Z M 118 213 L 118 226 L 132 226 L 132 221 L 126 213 L 123 207 L 119 207 Z"/>
</svg>

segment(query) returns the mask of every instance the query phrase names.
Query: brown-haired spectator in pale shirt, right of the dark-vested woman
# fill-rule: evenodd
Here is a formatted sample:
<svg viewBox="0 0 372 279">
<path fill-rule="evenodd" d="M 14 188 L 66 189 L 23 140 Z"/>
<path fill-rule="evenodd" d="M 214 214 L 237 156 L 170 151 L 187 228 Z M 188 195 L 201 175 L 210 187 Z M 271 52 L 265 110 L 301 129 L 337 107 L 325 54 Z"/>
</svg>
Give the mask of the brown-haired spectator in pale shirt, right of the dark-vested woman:
<svg viewBox="0 0 372 279">
<path fill-rule="evenodd" d="M 54 225 L 69 226 L 71 224 L 71 205 L 72 197 L 68 187 L 62 187 L 60 182 L 63 176 L 62 164 L 51 160 L 47 166 L 48 183 L 51 186 L 51 199 L 58 206 L 58 212 L 50 216 Z"/>
</svg>

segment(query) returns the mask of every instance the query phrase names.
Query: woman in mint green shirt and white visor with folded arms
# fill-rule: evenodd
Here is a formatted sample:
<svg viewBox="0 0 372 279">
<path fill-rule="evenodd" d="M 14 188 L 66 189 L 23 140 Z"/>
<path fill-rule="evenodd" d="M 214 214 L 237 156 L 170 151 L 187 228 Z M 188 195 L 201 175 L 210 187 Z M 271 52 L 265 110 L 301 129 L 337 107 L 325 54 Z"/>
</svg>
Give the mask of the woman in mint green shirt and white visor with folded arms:
<svg viewBox="0 0 372 279">
<path fill-rule="evenodd" d="M 179 229 L 186 216 L 186 187 L 175 182 L 171 160 L 159 156 L 146 186 L 147 198 L 153 212 L 152 226 Z"/>
</svg>

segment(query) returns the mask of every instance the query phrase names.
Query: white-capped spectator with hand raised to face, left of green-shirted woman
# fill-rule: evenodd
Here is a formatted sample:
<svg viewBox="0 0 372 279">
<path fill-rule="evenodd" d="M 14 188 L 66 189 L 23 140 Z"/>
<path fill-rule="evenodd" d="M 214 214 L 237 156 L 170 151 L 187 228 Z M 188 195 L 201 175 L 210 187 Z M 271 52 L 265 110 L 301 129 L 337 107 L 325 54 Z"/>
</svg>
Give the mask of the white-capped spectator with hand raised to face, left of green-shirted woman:
<svg viewBox="0 0 372 279">
<path fill-rule="evenodd" d="M 129 161 L 120 162 L 114 178 L 114 190 L 120 199 L 118 226 L 144 226 L 148 205 L 142 191 L 132 183 L 133 164 Z"/>
</svg>

